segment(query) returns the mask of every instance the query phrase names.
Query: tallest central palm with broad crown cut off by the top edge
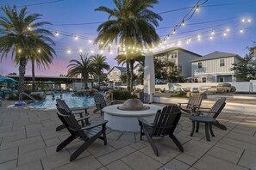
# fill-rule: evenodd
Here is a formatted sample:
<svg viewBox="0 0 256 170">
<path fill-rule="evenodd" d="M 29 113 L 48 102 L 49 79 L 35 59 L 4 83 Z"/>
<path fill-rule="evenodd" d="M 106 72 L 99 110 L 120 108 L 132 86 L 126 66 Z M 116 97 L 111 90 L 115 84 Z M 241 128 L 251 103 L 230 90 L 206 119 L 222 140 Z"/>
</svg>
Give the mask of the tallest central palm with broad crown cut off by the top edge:
<svg viewBox="0 0 256 170">
<path fill-rule="evenodd" d="M 95 43 L 99 48 L 109 47 L 114 41 L 122 47 L 153 46 L 158 44 L 159 35 L 155 27 L 159 26 L 160 15 L 150 10 L 158 0 L 113 0 L 116 8 L 109 9 L 101 6 L 95 10 L 106 12 L 109 20 L 97 27 L 97 39 Z M 130 58 L 132 52 L 127 52 L 126 58 Z M 127 62 L 128 72 L 128 62 Z M 128 76 L 128 75 L 127 75 Z M 129 76 L 128 76 L 129 77 Z M 128 89 L 130 89 L 128 81 Z"/>
</svg>

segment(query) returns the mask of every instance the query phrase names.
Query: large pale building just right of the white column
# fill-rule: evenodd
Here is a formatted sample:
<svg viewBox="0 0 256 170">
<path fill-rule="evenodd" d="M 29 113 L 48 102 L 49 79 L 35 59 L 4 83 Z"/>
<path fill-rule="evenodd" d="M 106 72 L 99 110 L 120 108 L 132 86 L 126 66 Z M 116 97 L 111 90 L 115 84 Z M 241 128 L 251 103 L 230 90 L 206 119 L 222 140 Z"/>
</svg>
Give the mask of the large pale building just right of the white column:
<svg viewBox="0 0 256 170">
<path fill-rule="evenodd" d="M 153 57 L 160 60 L 162 64 L 166 64 L 168 61 L 174 63 L 176 69 L 179 70 L 180 76 L 189 77 L 191 76 L 190 60 L 201 58 L 202 56 L 183 48 L 172 47 L 161 52 L 155 52 Z"/>
</svg>

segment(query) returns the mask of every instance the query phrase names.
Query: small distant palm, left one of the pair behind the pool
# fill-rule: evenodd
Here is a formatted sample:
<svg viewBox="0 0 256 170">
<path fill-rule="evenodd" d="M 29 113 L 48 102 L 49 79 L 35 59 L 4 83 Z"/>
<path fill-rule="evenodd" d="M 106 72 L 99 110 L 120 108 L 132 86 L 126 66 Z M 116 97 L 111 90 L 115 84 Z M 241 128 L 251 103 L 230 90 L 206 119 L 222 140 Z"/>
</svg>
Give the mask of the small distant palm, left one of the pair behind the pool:
<svg viewBox="0 0 256 170">
<path fill-rule="evenodd" d="M 79 54 L 80 60 L 72 59 L 69 61 L 70 67 L 67 73 L 69 77 L 78 77 L 82 76 L 84 78 L 84 89 L 88 89 L 89 76 L 95 76 L 96 70 L 95 65 L 92 62 L 91 56 L 88 57 L 88 54 L 84 55 Z"/>
</svg>

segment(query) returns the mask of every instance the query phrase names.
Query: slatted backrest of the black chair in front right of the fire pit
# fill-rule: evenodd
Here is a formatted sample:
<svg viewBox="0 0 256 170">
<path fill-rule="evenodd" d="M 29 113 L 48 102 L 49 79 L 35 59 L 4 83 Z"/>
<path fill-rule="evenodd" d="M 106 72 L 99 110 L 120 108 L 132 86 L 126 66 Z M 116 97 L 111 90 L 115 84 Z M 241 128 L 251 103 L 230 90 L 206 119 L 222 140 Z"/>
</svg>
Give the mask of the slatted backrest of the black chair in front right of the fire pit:
<svg viewBox="0 0 256 170">
<path fill-rule="evenodd" d="M 172 135 L 178 124 L 180 116 L 180 109 L 176 105 L 165 106 L 162 111 L 159 110 L 153 121 L 154 129 L 151 136 L 163 137 L 166 135 Z"/>
</svg>

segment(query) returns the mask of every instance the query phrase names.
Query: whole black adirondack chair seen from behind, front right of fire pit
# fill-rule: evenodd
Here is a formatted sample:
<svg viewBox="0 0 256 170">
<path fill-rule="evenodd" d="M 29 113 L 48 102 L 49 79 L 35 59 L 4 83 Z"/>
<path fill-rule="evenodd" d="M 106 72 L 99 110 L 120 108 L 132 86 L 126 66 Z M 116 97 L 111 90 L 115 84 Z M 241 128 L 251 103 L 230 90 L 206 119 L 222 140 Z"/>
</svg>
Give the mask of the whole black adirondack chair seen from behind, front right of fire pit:
<svg viewBox="0 0 256 170">
<path fill-rule="evenodd" d="M 159 151 L 156 145 L 153 143 L 153 137 L 165 137 L 169 136 L 172 141 L 177 145 L 178 149 L 181 152 L 184 152 L 184 149 L 179 143 L 178 139 L 173 135 L 175 128 L 178 124 L 179 118 L 181 116 L 180 109 L 177 105 L 165 106 L 163 110 L 159 110 L 156 113 L 153 123 L 147 122 L 144 118 L 139 118 L 140 124 L 140 140 L 142 136 L 147 137 L 147 141 L 150 143 L 153 152 L 155 155 L 159 155 Z"/>
</svg>

